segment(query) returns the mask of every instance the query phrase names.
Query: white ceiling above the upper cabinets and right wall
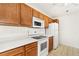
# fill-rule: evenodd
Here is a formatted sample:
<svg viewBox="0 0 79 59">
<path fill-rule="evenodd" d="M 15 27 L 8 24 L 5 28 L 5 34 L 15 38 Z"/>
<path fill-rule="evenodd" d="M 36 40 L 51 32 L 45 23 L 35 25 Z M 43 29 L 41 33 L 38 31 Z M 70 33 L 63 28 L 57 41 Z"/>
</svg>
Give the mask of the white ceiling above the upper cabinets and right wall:
<svg viewBox="0 0 79 59">
<path fill-rule="evenodd" d="M 61 17 L 79 12 L 78 3 L 29 3 L 50 17 Z"/>
</svg>

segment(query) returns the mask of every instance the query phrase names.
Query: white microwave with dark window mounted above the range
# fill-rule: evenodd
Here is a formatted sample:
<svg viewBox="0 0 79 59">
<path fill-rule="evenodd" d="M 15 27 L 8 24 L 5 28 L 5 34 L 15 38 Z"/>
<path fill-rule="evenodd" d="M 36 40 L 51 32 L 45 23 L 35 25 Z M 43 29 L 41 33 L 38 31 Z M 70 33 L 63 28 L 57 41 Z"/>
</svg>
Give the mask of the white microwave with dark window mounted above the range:
<svg viewBox="0 0 79 59">
<path fill-rule="evenodd" d="M 44 20 L 33 17 L 32 25 L 33 27 L 44 28 Z"/>
</svg>

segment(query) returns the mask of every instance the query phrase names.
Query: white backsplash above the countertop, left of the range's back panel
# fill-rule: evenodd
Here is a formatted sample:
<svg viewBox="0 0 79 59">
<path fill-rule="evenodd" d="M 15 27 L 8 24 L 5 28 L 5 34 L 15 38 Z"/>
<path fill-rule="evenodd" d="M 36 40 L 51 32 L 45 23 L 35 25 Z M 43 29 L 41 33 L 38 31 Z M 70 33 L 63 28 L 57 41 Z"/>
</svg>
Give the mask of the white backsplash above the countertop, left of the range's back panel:
<svg viewBox="0 0 79 59">
<path fill-rule="evenodd" d="M 21 37 L 28 37 L 27 27 L 0 26 L 0 42 Z"/>
</svg>

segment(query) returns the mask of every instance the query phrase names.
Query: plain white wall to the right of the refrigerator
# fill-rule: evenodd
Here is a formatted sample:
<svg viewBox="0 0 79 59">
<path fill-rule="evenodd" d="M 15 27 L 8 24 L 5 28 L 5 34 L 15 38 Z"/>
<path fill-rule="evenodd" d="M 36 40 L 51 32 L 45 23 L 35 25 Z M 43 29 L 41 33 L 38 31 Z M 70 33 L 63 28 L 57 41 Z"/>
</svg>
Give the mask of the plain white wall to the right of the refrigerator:
<svg viewBox="0 0 79 59">
<path fill-rule="evenodd" d="M 79 48 L 79 13 L 60 17 L 60 42 Z"/>
</svg>

